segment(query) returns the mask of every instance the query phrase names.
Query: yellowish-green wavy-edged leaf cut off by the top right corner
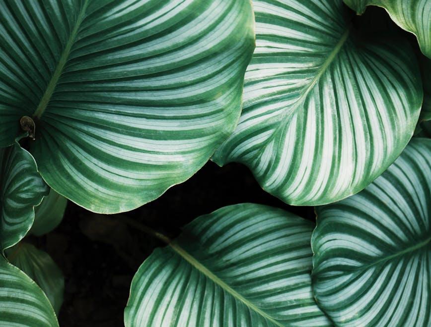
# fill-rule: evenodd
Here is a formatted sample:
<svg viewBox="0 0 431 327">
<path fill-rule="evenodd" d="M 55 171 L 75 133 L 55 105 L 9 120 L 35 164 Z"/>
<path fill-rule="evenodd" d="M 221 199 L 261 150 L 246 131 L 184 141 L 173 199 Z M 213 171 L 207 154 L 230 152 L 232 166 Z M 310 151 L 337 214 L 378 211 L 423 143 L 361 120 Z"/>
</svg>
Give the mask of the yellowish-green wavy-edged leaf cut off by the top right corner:
<svg viewBox="0 0 431 327">
<path fill-rule="evenodd" d="M 367 5 L 383 7 L 402 29 L 416 35 L 421 51 L 431 58 L 431 2 L 429 0 L 344 0 L 362 14 Z"/>
</svg>

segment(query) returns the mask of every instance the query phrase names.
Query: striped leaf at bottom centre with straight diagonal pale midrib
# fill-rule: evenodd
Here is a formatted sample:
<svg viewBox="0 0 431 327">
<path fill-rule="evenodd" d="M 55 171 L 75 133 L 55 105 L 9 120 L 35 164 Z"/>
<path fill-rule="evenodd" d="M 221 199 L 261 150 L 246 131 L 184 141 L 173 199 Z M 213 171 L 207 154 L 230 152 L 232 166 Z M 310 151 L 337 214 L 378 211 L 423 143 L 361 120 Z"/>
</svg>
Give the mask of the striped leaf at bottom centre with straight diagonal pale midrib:
<svg viewBox="0 0 431 327">
<path fill-rule="evenodd" d="M 311 293 L 312 229 L 254 204 L 196 218 L 139 268 L 125 325 L 328 325 Z"/>
</svg>

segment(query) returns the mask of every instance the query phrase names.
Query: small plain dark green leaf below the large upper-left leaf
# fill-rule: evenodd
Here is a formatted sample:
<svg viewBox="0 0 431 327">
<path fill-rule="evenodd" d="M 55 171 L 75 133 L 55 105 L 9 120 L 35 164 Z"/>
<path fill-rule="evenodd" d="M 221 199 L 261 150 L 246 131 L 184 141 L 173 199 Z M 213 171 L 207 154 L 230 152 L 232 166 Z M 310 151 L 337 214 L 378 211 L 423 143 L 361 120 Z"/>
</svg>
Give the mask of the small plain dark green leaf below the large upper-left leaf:
<svg viewBox="0 0 431 327">
<path fill-rule="evenodd" d="M 67 204 L 68 199 L 51 189 L 48 196 L 34 210 L 34 223 L 30 232 L 41 236 L 56 228 L 63 219 Z"/>
</svg>

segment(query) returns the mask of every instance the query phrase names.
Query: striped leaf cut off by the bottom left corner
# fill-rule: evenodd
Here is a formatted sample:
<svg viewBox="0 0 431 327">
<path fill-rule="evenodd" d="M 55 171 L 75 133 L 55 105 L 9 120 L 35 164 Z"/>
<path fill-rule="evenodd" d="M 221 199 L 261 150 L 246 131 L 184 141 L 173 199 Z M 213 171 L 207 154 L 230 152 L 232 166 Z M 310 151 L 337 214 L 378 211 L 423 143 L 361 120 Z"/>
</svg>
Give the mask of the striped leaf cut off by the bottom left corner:
<svg viewBox="0 0 431 327">
<path fill-rule="evenodd" d="M 0 326 L 59 326 L 43 291 L 0 256 Z"/>
</svg>

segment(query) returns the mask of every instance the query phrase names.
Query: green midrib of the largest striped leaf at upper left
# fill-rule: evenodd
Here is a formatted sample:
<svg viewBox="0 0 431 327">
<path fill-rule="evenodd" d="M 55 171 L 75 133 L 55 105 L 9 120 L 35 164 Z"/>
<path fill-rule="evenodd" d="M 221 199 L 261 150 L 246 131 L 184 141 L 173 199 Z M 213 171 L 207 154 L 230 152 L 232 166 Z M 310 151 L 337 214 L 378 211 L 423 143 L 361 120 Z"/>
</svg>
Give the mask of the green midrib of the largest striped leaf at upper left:
<svg viewBox="0 0 431 327">
<path fill-rule="evenodd" d="M 34 111 L 33 113 L 33 117 L 40 118 L 43 112 L 45 111 L 46 107 L 48 106 L 51 96 L 53 95 L 54 90 L 57 86 L 57 83 L 60 79 L 60 76 L 62 75 L 66 62 L 68 61 L 68 57 L 69 57 L 69 54 L 71 53 L 73 43 L 75 42 L 76 35 L 78 34 L 79 26 L 81 25 L 82 20 L 84 19 L 87 4 L 88 4 L 88 0 L 84 2 L 79 12 L 78 18 L 76 19 L 76 23 L 73 26 L 71 36 L 69 37 L 69 40 L 66 43 L 65 50 L 63 51 L 62 56 L 60 57 L 56 70 L 54 71 L 54 74 L 52 75 L 51 80 L 48 83 L 48 86 L 45 90 L 45 93 L 43 94 L 42 99 L 40 100 L 39 105 L 36 108 L 36 111 Z"/>
</svg>

